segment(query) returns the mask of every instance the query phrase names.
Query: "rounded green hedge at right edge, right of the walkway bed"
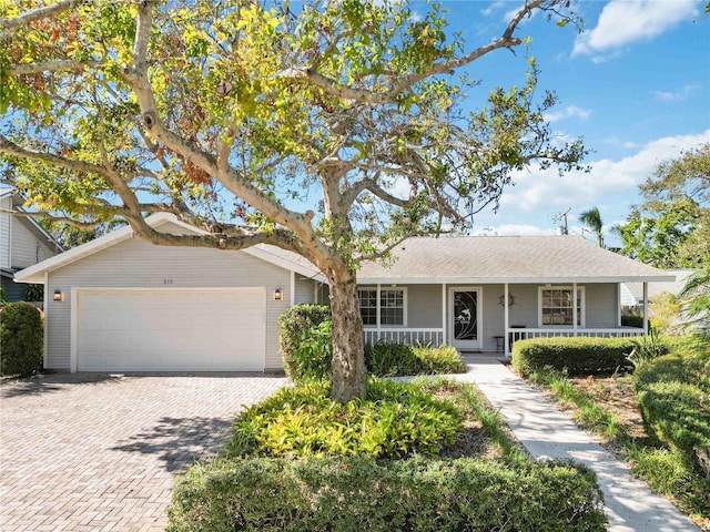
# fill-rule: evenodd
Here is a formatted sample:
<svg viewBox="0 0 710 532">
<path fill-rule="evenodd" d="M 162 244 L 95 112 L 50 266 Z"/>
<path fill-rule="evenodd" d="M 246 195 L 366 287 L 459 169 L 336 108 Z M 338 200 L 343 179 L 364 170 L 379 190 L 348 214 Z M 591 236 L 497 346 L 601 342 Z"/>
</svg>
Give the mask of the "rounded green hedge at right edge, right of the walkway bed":
<svg viewBox="0 0 710 532">
<path fill-rule="evenodd" d="M 635 374 L 641 413 L 659 440 L 691 456 L 710 450 L 710 354 L 672 354 Z"/>
</svg>

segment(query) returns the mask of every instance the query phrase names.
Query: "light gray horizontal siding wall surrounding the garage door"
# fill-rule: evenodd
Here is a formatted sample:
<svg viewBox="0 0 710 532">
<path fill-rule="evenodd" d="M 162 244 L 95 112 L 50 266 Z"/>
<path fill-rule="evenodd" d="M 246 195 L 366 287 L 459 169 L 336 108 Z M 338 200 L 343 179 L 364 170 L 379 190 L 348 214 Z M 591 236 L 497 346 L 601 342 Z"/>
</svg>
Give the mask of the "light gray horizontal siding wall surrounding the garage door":
<svg viewBox="0 0 710 532">
<path fill-rule="evenodd" d="M 165 231 L 161 227 L 161 231 Z M 49 300 L 47 367 L 70 369 L 71 288 L 247 287 L 266 289 L 266 370 L 282 368 L 278 316 L 290 306 L 291 273 L 244 252 L 154 246 L 131 238 L 49 274 L 49 294 L 60 289 L 63 301 Z M 276 288 L 284 298 L 274 300 Z"/>
</svg>

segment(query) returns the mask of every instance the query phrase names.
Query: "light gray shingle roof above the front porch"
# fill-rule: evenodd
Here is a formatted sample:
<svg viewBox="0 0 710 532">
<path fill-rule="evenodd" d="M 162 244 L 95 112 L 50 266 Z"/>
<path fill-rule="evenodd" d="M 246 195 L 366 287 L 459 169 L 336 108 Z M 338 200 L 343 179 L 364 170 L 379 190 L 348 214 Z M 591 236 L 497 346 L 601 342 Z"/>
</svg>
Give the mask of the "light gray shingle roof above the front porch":
<svg viewBox="0 0 710 532">
<path fill-rule="evenodd" d="M 579 236 L 409 238 L 390 266 L 367 263 L 358 283 L 558 283 L 672 280 L 667 273 Z"/>
</svg>

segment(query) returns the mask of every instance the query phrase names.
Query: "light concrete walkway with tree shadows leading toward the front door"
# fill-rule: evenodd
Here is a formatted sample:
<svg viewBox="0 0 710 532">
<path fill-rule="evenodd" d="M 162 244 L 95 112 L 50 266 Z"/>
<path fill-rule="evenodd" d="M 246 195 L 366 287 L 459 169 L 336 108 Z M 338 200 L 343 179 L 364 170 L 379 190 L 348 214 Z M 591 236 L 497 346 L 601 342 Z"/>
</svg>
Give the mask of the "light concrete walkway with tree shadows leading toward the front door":
<svg viewBox="0 0 710 532">
<path fill-rule="evenodd" d="M 686 515 L 636 480 L 629 468 L 491 356 L 464 357 L 466 375 L 536 459 L 574 459 L 597 473 L 610 532 L 699 532 Z"/>
</svg>

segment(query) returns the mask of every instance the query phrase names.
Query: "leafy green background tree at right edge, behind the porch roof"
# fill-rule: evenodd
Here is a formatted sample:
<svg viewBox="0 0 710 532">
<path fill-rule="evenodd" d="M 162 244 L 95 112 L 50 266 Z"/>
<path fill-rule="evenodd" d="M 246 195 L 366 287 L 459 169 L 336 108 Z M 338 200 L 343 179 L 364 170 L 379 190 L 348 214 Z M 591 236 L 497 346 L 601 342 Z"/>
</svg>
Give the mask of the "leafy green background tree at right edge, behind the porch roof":
<svg viewBox="0 0 710 532">
<path fill-rule="evenodd" d="M 618 226 L 625 255 L 661 268 L 710 264 L 710 144 L 658 165 Z"/>
</svg>

